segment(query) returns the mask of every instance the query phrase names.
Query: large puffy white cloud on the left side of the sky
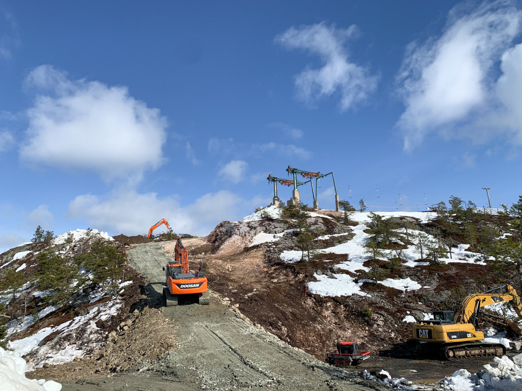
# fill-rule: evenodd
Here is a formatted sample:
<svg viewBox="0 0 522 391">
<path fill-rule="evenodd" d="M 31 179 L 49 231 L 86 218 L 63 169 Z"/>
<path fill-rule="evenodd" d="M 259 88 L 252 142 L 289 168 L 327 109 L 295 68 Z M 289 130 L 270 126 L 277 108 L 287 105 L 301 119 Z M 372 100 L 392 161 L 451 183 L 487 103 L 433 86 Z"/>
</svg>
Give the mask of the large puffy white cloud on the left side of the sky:
<svg viewBox="0 0 522 391">
<path fill-rule="evenodd" d="M 139 177 L 163 163 L 167 121 L 126 87 L 70 81 L 49 65 L 31 71 L 26 85 L 46 94 L 37 95 L 28 110 L 23 161 L 89 169 L 106 180 Z"/>
</svg>

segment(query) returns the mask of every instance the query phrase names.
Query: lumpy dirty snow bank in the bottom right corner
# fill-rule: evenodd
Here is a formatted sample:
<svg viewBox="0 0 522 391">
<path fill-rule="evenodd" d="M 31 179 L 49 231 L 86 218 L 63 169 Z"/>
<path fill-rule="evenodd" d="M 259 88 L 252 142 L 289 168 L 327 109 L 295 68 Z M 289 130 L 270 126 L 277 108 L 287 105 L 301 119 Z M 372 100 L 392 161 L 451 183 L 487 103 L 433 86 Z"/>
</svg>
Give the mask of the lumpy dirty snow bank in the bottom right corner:
<svg viewBox="0 0 522 391">
<path fill-rule="evenodd" d="M 522 390 L 522 353 L 513 357 L 494 357 L 493 366 L 484 365 L 474 375 L 465 369 L 441 380 L 445 389 L 453 391 L 520 391 Z"/>
</svg>

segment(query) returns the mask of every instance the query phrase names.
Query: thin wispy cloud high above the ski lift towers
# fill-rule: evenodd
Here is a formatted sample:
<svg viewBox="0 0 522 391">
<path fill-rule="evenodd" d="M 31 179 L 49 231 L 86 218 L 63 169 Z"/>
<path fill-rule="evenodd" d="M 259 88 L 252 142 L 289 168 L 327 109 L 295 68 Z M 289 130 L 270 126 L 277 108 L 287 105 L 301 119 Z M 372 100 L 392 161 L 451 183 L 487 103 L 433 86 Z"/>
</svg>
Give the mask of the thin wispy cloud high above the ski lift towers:
<svg viewBox="0 0 522 391">
<path fill-rule="evenodd" d="M 345 43 L 358 34 L 355 25 L 348 29 L 327 26 L 325 22 L 299 28 L 291 27 L 276 37 L 276 42 L 289 49 L 305 49 L 321 57 L 320 69 L 306 68 L 295 76 L 300 100 L 313 103 L 325 96 L 340 94 L 341 111 L 365 100 L 377 87 L 377 77 L 367 69 L 350 62 Z"/>
</svg>

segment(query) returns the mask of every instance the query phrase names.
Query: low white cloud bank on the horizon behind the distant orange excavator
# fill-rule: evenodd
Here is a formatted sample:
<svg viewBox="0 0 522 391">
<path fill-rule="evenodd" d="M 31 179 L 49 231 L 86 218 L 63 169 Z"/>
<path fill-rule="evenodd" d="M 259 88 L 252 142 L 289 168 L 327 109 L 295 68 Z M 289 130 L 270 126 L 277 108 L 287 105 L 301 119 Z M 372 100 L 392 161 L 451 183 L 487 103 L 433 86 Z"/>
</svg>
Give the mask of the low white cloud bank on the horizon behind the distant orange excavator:
<svg viewBox="0 0 522 391">
<path fill-rule="evenodd" d="M 68 217 L 85 218 L 91 227 L 125 235 L 144 235 L 160 218 L 165 218 L 176 233 L 207 235 L 221 221 L 235 218 L 242 202 L 226 190 L 205 194 L 185 207 L 174 196 L 113 191 L 105 197 L 77 196 L 69 203 Z"/>
</svg>

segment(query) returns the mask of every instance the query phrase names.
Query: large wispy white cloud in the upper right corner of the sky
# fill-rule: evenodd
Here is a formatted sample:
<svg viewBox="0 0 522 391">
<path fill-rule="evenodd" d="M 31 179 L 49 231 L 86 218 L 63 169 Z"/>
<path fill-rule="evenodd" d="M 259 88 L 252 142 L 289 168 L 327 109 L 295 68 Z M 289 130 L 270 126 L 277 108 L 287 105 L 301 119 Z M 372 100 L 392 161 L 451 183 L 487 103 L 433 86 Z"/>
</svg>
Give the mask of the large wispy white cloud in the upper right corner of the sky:
<svg viewBox="0 0 522 391">
<path fill-rule="evenodd" d="M 520 31 L 521 20 L 511 2 L 483 3 L 465 15 L 458 6 L 450 11 L 440 38 L 408 46 L 398 75 L 406 109 L 397 123 L 406 150 L 429 132 L 447 133 L 458 121 L 495 103 L 491 70 Z"/>
</svg>

